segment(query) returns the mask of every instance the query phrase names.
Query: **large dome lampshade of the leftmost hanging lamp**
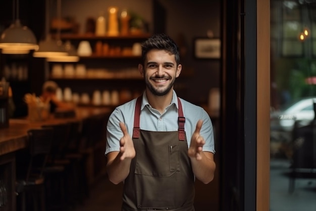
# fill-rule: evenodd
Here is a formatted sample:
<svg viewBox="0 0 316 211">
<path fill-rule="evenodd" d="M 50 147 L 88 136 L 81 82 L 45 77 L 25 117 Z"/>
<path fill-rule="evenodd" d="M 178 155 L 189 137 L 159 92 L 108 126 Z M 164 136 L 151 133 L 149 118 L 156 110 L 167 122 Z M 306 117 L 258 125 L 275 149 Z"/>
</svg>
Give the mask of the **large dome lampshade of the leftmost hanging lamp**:
<svg viewBox="0 0 316 211">
<path fill-rule="evenodd" d="M 34 33 L 27 26 L 22 26 L 17 19 L 2 33 L 0 48 L 25 51 L 37 50 L 38 45 Z"/>
</svg>

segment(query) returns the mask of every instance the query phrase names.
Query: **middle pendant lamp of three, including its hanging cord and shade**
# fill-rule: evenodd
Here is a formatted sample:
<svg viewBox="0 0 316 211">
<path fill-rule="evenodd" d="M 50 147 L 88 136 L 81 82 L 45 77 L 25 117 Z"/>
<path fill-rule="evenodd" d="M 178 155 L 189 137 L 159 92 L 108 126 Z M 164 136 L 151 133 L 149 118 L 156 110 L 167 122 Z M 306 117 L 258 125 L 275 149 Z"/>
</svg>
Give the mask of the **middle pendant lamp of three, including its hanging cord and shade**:
<svg viewBox="0 0 316 211">
<path fill-rule="evenodd" d="M 65 56 L 67 52 L 62 47 L 60 36 L 52 39 L 49 34 L 49 0 L 46 0 L 46 38 L 39 42 L 39 49 L 33 53 L 33 57 Z"/>
</svg>

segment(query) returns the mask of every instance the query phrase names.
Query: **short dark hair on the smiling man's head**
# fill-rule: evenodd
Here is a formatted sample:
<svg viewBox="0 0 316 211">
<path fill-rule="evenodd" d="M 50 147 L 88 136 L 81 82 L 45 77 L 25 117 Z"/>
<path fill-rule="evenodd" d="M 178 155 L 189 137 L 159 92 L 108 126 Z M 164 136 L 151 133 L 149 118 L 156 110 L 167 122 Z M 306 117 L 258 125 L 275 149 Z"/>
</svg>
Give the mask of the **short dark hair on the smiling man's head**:
<svg viewBox="0 0 316 211">
<path fill-rule="evenodd" d="M 175 55 L 177 65 L 180 64 L 179 47 L 170 36 L 164 33 L 153 34 L 141 44 L 141 59 L 143 65 L 145 65 L 147 53 L 153 49 L 170 52 L 172 55 Z"/>
</svg>

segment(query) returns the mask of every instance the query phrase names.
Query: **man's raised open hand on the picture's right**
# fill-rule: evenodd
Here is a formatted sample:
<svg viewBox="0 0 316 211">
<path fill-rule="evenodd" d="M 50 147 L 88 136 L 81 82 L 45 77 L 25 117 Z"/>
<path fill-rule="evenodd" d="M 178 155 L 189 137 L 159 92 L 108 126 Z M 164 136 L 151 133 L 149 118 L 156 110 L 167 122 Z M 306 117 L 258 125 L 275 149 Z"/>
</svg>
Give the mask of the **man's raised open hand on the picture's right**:
<svg viewBox="0 0 316 211">
<path fill-rule="evenodd" d="M 202 128 L 203 120 L 198 120 L 196 123 L 195 131 L 191 138 L 190 147 L 188 149 L 188 155 L 189 157 L 193 158 L 195 157 L 197 160 L 202 159 L 202 148 L 205 144 L 204 138 L 200 135 L 200 131 Z"/>
</svg>

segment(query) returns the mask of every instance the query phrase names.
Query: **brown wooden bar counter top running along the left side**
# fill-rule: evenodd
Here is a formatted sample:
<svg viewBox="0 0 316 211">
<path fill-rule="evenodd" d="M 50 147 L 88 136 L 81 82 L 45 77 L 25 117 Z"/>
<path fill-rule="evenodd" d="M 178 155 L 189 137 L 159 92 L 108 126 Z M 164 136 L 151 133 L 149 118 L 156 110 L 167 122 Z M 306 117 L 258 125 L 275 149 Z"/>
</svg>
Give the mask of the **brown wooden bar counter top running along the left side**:
<svg viewBox="0 0 316 211">
<path fill-rule="evenodd" d="M 9 127 L 0 129 L 0 156 L 23 149 L 27 146 L 27 131 L 41 128 L 45 124 L 59 124 L 70 121 L 82 121 L 85 118 L 109 114 L 112 108 L 109 107 L 77 107 L 74 117 L 56 118 L 51 114 L 43 121 L 30 121 L 27 117 L 9 119 Z"/>
</svg>

